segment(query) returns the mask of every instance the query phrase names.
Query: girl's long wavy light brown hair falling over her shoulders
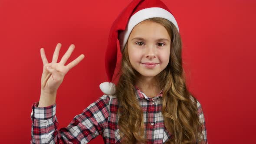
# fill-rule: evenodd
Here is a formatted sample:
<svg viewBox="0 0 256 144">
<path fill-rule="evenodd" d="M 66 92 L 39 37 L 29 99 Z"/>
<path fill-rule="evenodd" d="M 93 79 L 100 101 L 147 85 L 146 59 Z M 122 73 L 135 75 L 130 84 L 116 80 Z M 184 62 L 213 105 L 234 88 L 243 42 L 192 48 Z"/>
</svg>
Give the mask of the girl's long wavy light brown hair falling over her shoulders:
<svg viewBox="0 0 256 144">
<path fill-rule="evenodd" d="M 181 58 L 181 36 L 169 20 L 163 18 L 147 19 L 160 23 L 171 38 L 170 60 L 167 67 L 156 75 L 162 91 L 162 114 L 164 126 L 174 137 L 166 144 L 195 144 L 203 140 L 203 125 L 200 123 L 197 101 L 188 91 Z M 138 72 L 131 66 L 127 43 L 121 52 L 121 69 L 116 87 L 118 98 L 118 127 L 124 144 L 145 143 L 143 110 L 135 93 Z"/>
</svg>

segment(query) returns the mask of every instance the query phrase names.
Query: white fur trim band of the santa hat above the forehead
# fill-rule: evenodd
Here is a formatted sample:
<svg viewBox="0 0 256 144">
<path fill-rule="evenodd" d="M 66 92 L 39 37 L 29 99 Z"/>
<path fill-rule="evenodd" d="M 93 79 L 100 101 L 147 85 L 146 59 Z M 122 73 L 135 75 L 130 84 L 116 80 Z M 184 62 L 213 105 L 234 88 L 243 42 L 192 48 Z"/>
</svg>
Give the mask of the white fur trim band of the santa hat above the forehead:
<svg viewBox="0 0 256 144">
<path fill-rule="evenodd" d="M 135 13 L 134 15 L 131 16 L 131 18 L 128 21 L 126 29 L 124 31 L 122 31 L 118 36 L 118 39 L 120 41 L 121 51 L 125 47 L 125 43 L 127 42 L 128 37 L 130 36 L 131 30 L 138 23 L 142 22 L 143 20 L 152 18 L 152 17 L 161 17 L 161 18 L 165 18 L 165 19 L 171 21 L 177 27 L 177 29 L 179 31 L 179 27 L 178 27 L 178 24 L 177 24 L 174 16 L 167 10 L 164 10 L 163 8 L 160 8 L 160 7 L 151 7 L 151 8 L 139 10 L 137 13 Z"/>
</svg>

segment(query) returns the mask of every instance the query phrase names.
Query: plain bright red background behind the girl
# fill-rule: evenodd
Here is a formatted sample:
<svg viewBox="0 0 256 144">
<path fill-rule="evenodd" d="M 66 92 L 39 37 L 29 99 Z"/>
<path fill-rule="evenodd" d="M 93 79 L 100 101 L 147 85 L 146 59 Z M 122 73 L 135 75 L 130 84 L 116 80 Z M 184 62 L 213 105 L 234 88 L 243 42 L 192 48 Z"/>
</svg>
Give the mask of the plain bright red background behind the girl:
<svg viewBox="0 0 256 144">
<path fill-rule="evenodd" d="M 0 140 L 27 144 L 31 105 L 39 101 L 44 48 L 51 62 L 70 44 L 69 62 L 85 55 L 57 93 L 59 128 L 66 127 L 102 95 L 107 81 L 104 52 L 109 29 L 131 0 L 0 0 Z M 203 105 L 210 144 L 254 140 L 256 1 L 163 0 L 180 28 L 184 69 L 191 92 Z M 103 143 L 99 136 L 92 143 Z"/>
</svg>

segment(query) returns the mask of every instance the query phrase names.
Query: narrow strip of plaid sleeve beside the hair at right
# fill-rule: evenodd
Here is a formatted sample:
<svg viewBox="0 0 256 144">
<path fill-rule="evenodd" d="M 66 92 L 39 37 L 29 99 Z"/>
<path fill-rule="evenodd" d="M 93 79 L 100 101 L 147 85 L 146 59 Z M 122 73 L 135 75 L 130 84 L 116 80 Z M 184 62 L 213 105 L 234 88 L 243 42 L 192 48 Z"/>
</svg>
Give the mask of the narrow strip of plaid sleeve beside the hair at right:
<svg viewBox="0 0 256 144">
<path fill-rule="evenodd" d="M 203 143 L 201 143 L 201 144 L 208 144 L 205 118 L 204 118 L 204 115 L 203 115 L 203 108 L 202 108 L 202 106 L 201 106 L 201 104 L 198 100 L 197 100 L 197 111 L 198 111 L 198 115 L 199 115 L 199 120 L 203 124 L 203 131 L 202 131 L 202 133 L 203 133 Z"/>
</svg>

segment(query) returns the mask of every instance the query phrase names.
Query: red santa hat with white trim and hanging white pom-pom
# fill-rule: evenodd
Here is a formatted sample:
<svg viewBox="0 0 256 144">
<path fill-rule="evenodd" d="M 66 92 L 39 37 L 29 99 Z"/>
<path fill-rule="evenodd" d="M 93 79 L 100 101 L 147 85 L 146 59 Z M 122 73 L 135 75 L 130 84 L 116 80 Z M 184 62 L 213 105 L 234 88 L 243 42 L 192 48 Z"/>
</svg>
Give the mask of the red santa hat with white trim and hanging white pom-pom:
<svg viewBox="0 0 256 144">
<path fill-rule="evenodd" d="M 108 37 L 108 46 L 105 53 L 105 70 L 108 81 L 100 84 L 100 89 L 107 95 L 115 94 L 115 84 L 112 77 L 117 61 L 117 39 L 121 51 L 124 49 L 131 30 L 143 20 L 161 17 L 171 21 L 179 31 L 176 20 L 171 11 L 160 0 L 132 0 L 125 9 L 118 15 L 112 24 Z"/>
</svg>

